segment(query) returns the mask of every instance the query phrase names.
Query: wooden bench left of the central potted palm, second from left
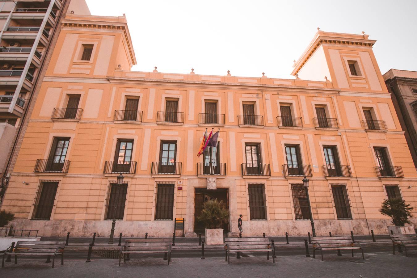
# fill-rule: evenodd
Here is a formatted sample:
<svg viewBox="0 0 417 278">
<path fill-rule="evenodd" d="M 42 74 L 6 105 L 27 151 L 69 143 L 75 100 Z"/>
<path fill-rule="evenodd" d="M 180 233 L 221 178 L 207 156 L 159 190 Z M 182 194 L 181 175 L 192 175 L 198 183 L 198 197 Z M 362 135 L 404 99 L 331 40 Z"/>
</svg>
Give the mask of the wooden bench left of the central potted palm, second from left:
<svg viewBox="0 0 417 278">
<path fill-rule="evenodd" d="M 126 239 L 120 251 L 119 266 L 122 260 L 126 263 L 126 255 L 138 253 L 167 253 L 168 265 L 171 261 L 172 240 L 166 238 Z"/>
</svg>

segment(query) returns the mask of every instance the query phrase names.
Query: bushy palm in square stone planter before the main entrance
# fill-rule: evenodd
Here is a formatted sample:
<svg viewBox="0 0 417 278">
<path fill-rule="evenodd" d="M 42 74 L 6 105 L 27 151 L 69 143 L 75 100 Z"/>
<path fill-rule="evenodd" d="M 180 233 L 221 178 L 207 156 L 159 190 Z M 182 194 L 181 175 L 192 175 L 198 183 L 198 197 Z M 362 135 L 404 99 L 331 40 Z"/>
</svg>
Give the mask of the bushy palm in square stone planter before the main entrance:
<svg viewBox="0 0 417 278">
<path fill-rule="evenodd" d="M 208 200 L 197 217 L 206 228 L 207 244 L 223 244 L 223 224 L 229 221 L 229 211 L 224 208 L 223 201 Z"/>
</svg>

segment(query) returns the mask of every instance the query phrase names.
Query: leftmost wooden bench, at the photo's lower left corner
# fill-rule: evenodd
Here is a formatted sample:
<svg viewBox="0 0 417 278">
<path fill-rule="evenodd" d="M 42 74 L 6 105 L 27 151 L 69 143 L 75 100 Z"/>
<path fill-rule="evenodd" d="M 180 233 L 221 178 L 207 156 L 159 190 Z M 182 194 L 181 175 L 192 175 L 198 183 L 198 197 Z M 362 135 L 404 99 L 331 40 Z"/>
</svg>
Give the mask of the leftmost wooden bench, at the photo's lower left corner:
<svg viewBox="0 0 417 278">
<path fill-rule="evenodd" d="M 5 253 L 3 253 L 3 262 L 1 267 L 4 267 L 4 259 L 6 255 L 14 255 L 15 256 L 15 264 L 18 263 L 18 256 L 26 255 L 26 256 L 48 256 L 48 261 L 50 256 L 52 256 L 52 268 L 54 268 L 55 264 L 55 256 L 61 256 L 61 265 L 64 264 L 64 248 L 65 248 L 65 241 L 25 241 L 19 240 L 16 243 L 13 250 L 11 246 L 7 248 Z"/>
</svg>

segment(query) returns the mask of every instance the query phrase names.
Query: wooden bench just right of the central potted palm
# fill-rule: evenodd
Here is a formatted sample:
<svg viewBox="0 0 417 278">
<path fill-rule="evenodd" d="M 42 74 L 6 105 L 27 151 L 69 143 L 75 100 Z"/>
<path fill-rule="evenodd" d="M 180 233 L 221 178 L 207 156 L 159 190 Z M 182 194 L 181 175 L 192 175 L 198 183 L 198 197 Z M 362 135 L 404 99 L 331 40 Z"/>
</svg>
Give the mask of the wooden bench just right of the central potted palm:
<svg viewBox="0 0 417 278">
<path fill-rule="evenodd" d="M 226 257 L 230 263 L 230 252 L 267 252 L 266 258 L 269 260 L 269 252 L 272 251 L 272 259 L 275 263 L 275 248 L 269 243 L 268 238 L 225 238 L 224 249 Z"/>
</svg>

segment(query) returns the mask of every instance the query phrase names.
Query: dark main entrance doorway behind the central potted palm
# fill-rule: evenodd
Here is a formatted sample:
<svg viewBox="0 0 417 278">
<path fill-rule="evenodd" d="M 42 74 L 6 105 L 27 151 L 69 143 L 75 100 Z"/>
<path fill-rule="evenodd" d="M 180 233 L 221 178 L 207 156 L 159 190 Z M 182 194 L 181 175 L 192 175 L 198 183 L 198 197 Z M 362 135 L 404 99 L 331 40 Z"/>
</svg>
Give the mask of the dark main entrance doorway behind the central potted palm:
<svg viewBox="0 0 417 278">
<path fill-rule="evenodd" d="M 219 202 L 223 201 L 223 207 L 229 210 L 229 190 L 227 188 L 217 188 L 216 190 L 208 190 L 207 188 L 195 188 L 195 202 L 194 202 L 194 232 L 202 233 L 204 235 L 205 230 L 203 223 L 197 220 L 197 217 L 203 210 L 204 202 L 208 200 L 217 199 Z M 223 232 L 229 232 L 230 215 L 228 223 L 224 223 Z"/>
</svg>

